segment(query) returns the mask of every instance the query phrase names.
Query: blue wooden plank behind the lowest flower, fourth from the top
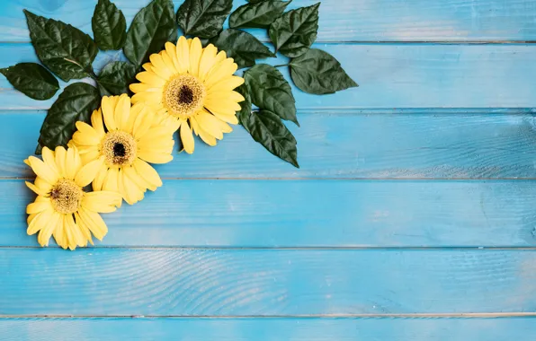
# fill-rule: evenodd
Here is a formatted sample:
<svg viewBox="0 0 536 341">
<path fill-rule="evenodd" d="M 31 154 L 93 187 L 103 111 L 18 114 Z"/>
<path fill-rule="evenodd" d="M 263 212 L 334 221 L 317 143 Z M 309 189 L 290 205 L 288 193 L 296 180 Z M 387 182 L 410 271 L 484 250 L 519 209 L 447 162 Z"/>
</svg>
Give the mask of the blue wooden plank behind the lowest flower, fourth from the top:
<svg viewBox="0 0 536 341">
<path fill-rule="evenodd" d="M 27 236 L 21 180 L 0 181 L 0 245 Z M 534 181 L 166 180 L 103 214 L 101 246 L 534 247 Z"/>
</svg>

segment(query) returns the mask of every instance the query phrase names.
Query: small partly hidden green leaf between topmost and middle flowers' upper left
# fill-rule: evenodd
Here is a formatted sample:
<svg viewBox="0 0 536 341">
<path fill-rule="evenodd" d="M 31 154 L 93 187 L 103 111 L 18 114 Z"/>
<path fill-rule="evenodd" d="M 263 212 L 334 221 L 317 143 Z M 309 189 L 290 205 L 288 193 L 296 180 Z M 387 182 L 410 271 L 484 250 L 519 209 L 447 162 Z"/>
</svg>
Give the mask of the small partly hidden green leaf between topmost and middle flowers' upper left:
<svg viewBox="0 0 536 341">
<path fill-rule="evenodd" d="M 129 92 L 129 84 L 135 75 L 136 67 L 130 63 L 112 62 L 103 67 L 97 82 L 112 95 L 121 95 Z"/>
</svg>

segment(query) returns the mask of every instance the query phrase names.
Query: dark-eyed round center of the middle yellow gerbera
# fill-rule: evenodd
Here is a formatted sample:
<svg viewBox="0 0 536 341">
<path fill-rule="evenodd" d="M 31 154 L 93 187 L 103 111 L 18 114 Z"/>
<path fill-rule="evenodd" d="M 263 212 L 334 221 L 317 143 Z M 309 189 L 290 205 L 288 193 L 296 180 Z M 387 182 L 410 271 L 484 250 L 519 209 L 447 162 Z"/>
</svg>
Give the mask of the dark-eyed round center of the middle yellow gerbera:
<svg viewBox="0 0 536 341">
<path fill-rule="evenodd" d="M 109 166 L 127 166 L 136 159 L 134 136 L 124 131 L 112 131 L 104 137 L 101 153 Z"/>
</svg>

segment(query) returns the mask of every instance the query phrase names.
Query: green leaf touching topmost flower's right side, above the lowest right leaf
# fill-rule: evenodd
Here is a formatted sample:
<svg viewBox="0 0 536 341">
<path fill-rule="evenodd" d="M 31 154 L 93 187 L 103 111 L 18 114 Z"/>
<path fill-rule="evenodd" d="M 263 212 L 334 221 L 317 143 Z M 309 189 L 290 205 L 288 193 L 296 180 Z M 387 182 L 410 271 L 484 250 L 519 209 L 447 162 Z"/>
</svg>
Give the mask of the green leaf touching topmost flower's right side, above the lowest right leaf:
<svg viewBox="0 0 536 341">
<path fill-rule="evenodd" d="M 282 119 L 297 125 L 296 101 L 289 83 L 273 66 L 256 65 L 244 73 L 244 80 L 251 95 L 251 101 L 260 109 L 266 109 Z"/>
</svg>

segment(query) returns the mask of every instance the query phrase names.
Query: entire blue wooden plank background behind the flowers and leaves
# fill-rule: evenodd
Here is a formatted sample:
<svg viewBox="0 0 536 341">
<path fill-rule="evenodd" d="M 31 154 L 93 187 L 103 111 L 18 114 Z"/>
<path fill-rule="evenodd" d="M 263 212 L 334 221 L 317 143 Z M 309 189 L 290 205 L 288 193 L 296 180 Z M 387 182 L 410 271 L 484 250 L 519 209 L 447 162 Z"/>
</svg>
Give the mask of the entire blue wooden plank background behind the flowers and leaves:
<svg viewBox="0 0 536 341">
<path fill-rule="evenodd" d="M 36 60 L 23 8 L 91 34 L 94 3 L 3 0 L 0 66 Z M 0 77 L 0 339 L 536 339 L 535 40 L 534 0 L 323 0 L 361 87 L 295 89 L 301 169 L 237 127 L 75 252 L 25 235 L 54 99 Z"/>
</svg>

